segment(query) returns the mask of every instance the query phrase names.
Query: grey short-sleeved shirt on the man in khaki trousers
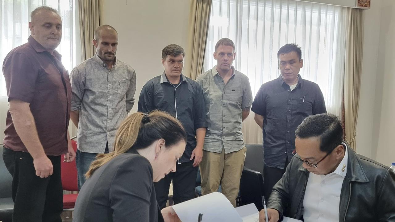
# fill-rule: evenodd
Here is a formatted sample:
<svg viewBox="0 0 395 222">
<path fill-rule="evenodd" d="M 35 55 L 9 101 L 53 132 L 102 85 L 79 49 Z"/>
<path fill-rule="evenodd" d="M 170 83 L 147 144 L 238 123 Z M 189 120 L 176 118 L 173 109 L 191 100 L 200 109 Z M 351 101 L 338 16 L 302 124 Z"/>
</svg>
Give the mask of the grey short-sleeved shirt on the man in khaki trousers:
<svg viewBox="0 0 395 222">
<path fill-rule="evenodd" d="M 196 82 L 203 89 L 208 123 L 203 149 L 225 153 L 244 147 L 241 133 L 243 109 L 252 105 L 250 81 L 232 66 L 233 75 L 225 85 L 216 66 L 198 76 Z"/>
</svg>

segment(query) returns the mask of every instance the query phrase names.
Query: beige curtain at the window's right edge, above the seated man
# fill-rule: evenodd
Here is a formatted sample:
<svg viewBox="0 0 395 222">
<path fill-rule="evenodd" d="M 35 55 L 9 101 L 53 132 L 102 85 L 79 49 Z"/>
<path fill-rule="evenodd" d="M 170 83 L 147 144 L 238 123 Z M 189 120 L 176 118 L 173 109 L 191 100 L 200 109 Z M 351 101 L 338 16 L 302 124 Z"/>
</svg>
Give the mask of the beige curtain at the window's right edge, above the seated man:
<svg viewBox="0 0 395 222">
<path fill-rule="evenodd" d="M 346 35 L 346 61 L 344 65 L 344 127 L 345 139 L 356 151 L 355 128 L 357 126 L 359 91 L 361 88 L 363 9 L 348 9 Z"/>
</svg>

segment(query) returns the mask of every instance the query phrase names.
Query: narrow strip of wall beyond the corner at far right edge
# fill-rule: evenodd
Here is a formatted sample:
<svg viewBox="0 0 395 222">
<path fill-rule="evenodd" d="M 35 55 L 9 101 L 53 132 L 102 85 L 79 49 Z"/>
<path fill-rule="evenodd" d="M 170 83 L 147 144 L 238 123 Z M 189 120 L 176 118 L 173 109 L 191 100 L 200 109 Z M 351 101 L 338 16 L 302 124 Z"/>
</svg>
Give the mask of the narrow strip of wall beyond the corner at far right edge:
<svg viewBox="0 0 395 222">
<path fill-rule="evenodd" d="M 376 160 L 386 165 L 395 162 L 395 147 L 391 143 L 395 124 L 395 1 L 382 0 L 380 38 L 376 80 L 376 124 L 372 147 L 377 147 Z"/>
</svg>

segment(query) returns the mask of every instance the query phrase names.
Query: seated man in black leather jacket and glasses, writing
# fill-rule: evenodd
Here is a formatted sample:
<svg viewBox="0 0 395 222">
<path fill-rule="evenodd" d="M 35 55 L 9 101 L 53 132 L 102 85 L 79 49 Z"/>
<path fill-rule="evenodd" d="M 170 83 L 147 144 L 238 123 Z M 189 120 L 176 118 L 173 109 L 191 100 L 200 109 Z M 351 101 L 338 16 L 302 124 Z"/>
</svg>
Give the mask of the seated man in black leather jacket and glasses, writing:
<svg viewBox="0 0 395 222">
<path fill-rule="evenodd" d="M 342 141 L 335 115 L 311 115 L 295 134 L 294 157 L 267 203 L 269 222 L 395 221 L 395 173 Z"/>
</svg>

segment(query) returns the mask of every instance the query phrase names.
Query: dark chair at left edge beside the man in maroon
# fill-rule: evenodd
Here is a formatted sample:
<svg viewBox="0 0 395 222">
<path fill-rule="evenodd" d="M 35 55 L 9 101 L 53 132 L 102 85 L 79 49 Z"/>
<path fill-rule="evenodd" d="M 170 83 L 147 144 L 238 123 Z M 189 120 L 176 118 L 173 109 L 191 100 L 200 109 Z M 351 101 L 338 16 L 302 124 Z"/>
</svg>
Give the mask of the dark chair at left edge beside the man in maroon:
<svg viewBox="0 0 395 222">
<path fill-rule="evenodd" d="M 3 160 L 3 147 L 0 147 L 0 221 L 11 222 L 14 202 L 11 196 L 12 176 Z"/>
</svg>

